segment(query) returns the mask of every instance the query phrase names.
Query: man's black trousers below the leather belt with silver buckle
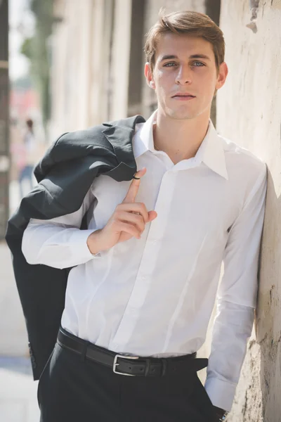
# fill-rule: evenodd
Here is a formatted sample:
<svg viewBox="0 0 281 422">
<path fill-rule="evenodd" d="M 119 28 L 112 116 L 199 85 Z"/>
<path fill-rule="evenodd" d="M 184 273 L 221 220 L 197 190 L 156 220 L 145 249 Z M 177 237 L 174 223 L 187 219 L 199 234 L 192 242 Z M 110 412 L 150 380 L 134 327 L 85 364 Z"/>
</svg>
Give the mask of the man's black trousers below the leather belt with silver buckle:
<svg viewBox="0 0 281 422">
<path fill-rule="evenodd" d="M 214 422 L 196 371 L 122 376 L 56 343 L 38 386 L 40 422 Z"/>
</svg>

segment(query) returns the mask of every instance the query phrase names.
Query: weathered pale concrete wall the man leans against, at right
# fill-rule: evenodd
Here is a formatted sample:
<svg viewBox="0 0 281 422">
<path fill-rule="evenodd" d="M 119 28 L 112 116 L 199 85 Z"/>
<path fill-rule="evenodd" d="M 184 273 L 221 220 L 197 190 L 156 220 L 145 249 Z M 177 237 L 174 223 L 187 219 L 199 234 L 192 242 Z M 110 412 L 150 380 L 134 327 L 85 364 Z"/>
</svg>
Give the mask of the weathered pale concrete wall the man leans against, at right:
<svg viewBox="0 0 281 422">
<path fill-rule="evenodd" d="M 256 326 L 228 421 L 281 421 L 281 1 L 221 2 L 228 81 L 218 92 L 218 132 L 268 164 Z"/>
</svg>

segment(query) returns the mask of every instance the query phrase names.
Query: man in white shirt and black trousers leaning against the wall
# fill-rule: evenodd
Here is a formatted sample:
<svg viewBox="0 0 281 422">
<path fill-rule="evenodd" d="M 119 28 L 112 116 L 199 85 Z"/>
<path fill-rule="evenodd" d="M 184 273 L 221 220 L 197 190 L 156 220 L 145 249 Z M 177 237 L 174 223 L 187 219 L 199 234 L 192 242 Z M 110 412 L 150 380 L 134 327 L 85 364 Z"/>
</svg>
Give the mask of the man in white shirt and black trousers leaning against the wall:
<svg viewBox="0 0 281 422">
<path fill-rule="evenodd" d="M 220 421 L 233 402 L 256 305 L 266 166 L 209 120 L 228 74 L 211 19 L 162 14 L 145 51 L 158 108 L 136 125 L 141 170 L 133 181 L 100 175 L 79 210 L 31 219 L 22 239 L 30 264 L 72 267 L 39 381 L 41 422 Z M 208 362 L 195 353 L 216 298 L 204 388 L 197 371 Z"/>
</svg>

